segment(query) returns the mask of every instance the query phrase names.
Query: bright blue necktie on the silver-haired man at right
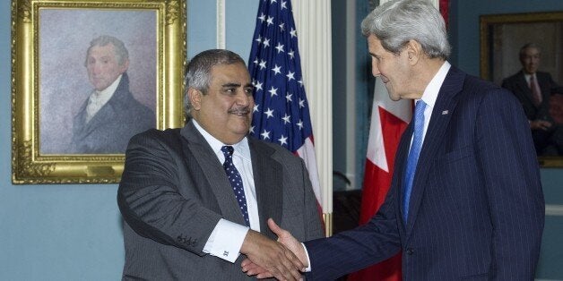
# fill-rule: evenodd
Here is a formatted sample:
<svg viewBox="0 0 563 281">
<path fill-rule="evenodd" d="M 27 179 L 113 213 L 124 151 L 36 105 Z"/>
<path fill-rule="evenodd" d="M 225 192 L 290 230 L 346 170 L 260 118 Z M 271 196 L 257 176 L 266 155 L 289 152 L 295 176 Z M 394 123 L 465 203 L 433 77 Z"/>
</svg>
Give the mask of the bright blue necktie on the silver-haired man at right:
<svg viewBox="0 0 563 281">
<path fill-rule="evenodd" d="M 424 132 L 424 108 L 426 104 L 419 100 L 414 106 L 414 117 L 412 123 L 414 126 L 414 136 L 412 138 L 411 150 L 407 158 L 407 170 L 404 176 L 403 185 L 403 219 L 404 223 L 407 222 L 409 217 L 409 201 L 411 200 L 412 181 L 416 173 L 416 164 L 419 161 L 420 149 L 422 148 L 422 133 Z"/>
</svg>

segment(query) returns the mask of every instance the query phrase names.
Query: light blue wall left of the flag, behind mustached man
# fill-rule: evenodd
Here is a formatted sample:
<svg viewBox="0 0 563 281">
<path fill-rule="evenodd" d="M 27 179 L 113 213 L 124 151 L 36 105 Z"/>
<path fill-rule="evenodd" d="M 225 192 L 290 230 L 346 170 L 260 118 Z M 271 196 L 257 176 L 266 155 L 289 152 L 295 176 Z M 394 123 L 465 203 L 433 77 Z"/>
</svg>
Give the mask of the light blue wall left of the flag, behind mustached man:
<svg viewBox="0 0 563 281">
<path fill-rule="evenodd" d="M 226 2 L 226 45 L 250 53 L 258 2 Z M 11 4 L 0 1 L 0 280 L 119 280 L 117 184 L 13 185 Z M 215 1 L 187 6 L 188 56 L 216 47 Z"/>
</svg>

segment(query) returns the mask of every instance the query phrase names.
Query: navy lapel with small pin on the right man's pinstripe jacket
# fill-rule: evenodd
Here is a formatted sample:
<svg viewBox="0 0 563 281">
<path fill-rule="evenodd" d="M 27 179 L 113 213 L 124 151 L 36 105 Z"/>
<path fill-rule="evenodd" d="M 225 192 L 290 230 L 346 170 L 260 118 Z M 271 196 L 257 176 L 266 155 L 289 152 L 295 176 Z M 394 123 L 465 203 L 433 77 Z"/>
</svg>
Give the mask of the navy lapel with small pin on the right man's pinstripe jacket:
<svg viewBox="0 0 563 281">
<path fill-rule="evenodd" d="M 454 113 L 457 104 L 455 95 L 462 90 L 464 79 L 465 74 L 452 66 L 438 92 L 412 183 L 409 217 L 407 219 L 408 225 L 406 227 L 407 239 L 411 234 L 412 226 L 414 226 L 418 215 L 420 201 L 428 182 L 432 162 L 436 159 L 437 150 L 440 147 L 441 140 L 444 138 L 447 123 L 449 123 L 450 117 Z"/>
</svg>

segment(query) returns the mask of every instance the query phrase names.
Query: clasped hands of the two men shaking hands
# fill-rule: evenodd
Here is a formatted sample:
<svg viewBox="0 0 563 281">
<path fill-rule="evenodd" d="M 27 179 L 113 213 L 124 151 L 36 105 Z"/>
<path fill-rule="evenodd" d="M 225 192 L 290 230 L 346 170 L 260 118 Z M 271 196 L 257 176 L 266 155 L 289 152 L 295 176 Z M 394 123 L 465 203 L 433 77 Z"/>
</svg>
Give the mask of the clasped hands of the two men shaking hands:
<svg viewBox="0 0 563 281">
<path fill-rule="evenodd" d="M 293 235 L 278 226 L 272 218 L 268 226 L 278 235 L 274 242 L 263 234 L 249 230 L 240 252 L 247 255 L 241 263 L 242 271 L 257 278 L 275 277 L 279 280 L 301 280 L 301 272 L 308 267 L 305 249 Z"/>
</svg>

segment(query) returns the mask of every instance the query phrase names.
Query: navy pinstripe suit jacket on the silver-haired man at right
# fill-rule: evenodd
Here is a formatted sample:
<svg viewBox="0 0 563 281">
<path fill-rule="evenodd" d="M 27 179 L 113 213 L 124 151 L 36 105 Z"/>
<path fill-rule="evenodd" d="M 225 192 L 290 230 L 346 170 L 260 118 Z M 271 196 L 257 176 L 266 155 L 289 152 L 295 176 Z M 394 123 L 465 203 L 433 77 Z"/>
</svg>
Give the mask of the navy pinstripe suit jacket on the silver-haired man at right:
<svg viewBox="0 0 563 281">
<path fill-rule="evenodd" d="M 404 280 L 533 280 L 544 201 L 522 106 L 452 67 L 439 90 L 414 178 L 408 224 L 403 133 L 384 205 L 367 225 L 306 243 L 313 280 L 403 251 Z"/>
</svg>

